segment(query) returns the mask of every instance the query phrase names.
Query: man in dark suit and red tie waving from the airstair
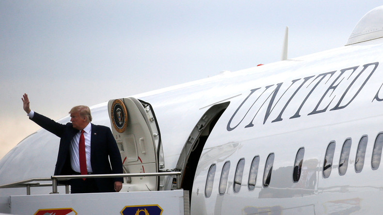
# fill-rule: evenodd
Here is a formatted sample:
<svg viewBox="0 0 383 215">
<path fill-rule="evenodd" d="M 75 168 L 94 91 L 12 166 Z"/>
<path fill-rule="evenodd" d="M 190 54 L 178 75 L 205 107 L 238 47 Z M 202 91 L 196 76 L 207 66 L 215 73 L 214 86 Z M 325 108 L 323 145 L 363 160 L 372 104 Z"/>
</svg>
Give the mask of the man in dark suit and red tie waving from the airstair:
<svg viewBox="0 0 383 215">
<path fill-rule="evenodd" d="M 89 107 L 73 107 L 69 111 L 71 123 L 61 124 L 32 111 L 27 94 L 21 100 L 33 122 L 61 138 L 54 175 L 123 173 L 120 152 L 111 130 L 90 123 Z M 69 184 L 71 193 L 119 192 L 122 182 L 120 177 L 88 178 L 71 179 Z"/>
</svg>

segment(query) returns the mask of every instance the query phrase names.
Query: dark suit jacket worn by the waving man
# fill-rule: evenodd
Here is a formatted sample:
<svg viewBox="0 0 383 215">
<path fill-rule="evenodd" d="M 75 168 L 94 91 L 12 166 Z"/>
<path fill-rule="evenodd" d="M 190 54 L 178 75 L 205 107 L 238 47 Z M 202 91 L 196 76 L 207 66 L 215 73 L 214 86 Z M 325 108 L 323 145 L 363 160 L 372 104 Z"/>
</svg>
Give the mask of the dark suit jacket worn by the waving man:
<svg viewBox="0 0 383 215">
<path fill-rule="evenodd" d="M 74 129 L 72 123 L 56 123 L 36 112 L 34 112 L 31 120 L 61 138 L 54 175 L 72 175 L 70 141 L 79 130 Z M 123 173 L 120 151 L 111 129 L 103 125 L 91 125 L 91 165 L 93 174 Z M 100 192 L 112 191 L 115 181 L 124 182 L 123 178 L 96 178 L 95 181 Z"/>
</svg>

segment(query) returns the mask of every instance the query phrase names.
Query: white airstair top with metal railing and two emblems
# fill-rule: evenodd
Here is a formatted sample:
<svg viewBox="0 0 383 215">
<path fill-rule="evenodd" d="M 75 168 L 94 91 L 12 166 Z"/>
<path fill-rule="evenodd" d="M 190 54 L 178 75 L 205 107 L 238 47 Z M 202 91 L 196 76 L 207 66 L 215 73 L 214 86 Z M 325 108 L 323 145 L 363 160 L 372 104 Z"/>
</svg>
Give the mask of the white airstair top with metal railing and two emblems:
<svg viewBox="0 0 383 215">
<path fill-rule="evenodd" d="M 25 187 L 26 195 L 2 197 L 0 212 L 15 215 L 81 215 L 81 214 L 121 214 L 121 215 L 189 215 L 189 191 L 174 189 L 166 191 L 134 191 L 119 193 L 69 194 L 58 192 L 61 180 L 71 178 L 99 177 L 161 177 L 176 176 L 181 172 L 105 174 L 105 175 L 67 175 L 51 178 L 33 178 L 12 184 L 0 185 L 0 188 Z M 52 183 L 44 184 L 51 181 Z M 52 186 L 47 194 L 31 194 L 31 187 Z M 179 187 L 176 184 L 176 187 Z"/>
</svg>

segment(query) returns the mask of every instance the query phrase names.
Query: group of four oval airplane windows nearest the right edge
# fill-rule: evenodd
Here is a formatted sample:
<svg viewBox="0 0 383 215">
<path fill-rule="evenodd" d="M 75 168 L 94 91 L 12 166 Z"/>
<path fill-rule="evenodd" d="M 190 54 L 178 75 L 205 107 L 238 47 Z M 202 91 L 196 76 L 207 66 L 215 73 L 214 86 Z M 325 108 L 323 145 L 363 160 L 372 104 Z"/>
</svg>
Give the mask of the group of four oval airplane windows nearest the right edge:
<svg viewBox="0 0 383 215">
<path fill-rule="evenodd" d="M 365 164 L 365 155 L 367 149 L 368 136 L 363 135 L 359 140 L 358 148 L 356 151 L 355 157 L 355 172 L 359 173 L 362 171 Z M 371 169 L 376 170 L 379 168 L 382 158 L 382 148 L 383 148 L 383 132 L 379 133 L 375 139 L 374 148 L 372 150 L 371 157 Z M 342 146 L 342 151 L 340 153 L 338 172 L 339 175 L 346 174 L 347 166 L 349 163 L 351 150 L 351 138 L 347 138 Z M 331 167 L 333 165 L 333 158 L 335 153 L 335 141 L 331 141 L 327 146 L 326 155 L 324 157 L 323 163 L 323 178 L 328 178 L 331 173 Z"/>
</svg>

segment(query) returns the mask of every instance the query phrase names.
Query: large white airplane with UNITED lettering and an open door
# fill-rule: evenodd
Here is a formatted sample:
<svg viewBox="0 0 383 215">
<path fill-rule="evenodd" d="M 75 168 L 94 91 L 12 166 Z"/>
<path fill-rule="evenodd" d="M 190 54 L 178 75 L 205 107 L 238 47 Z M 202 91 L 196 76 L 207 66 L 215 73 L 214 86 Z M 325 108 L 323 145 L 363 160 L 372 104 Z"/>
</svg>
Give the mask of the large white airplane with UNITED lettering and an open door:
<svg viewBox="0 0 383 215">
<path fill-rule="evenodd" d="M 180 188 L 193 215 L 381 213 L 382 30 L 380 6 L 346 46 L 91 107 L 94 123 L 111 127 L 125 173 L 180 172 L 125 177 L 105 195 Z M 50 176 L 58 143 L 45 130 L 21 141 L 0 160 L 0 187 Z M 20 195 L 0 189 L 0 213 L 14 213 Z M 79 195 L 57 196 L 74 204 Z"/>
</svg>

